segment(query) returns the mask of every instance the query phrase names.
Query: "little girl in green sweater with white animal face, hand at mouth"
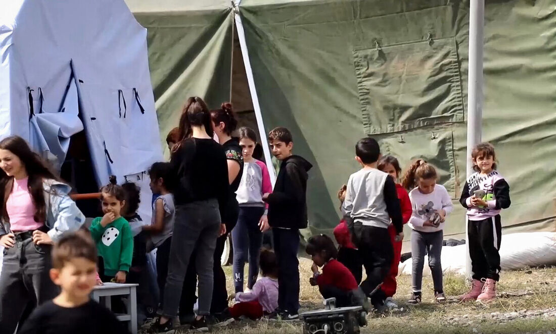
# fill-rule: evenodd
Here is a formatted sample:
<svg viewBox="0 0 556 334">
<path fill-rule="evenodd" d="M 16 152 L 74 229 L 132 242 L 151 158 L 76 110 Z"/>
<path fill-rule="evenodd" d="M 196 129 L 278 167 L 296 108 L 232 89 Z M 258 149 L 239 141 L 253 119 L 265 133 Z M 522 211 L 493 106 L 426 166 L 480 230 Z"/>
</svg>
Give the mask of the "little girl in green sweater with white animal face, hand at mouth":
<svg viewBox="0 0 556 334">
<path fill-rule="evenodd" d="M 125 283 L 133 256 L 130 224 L 120 214 L 125 190 L 110 176 L 110 184 L 101 189 L 104 216 L 93 220 L 90 230 L 98 250 L 98 271 L 103 282 Z"/>
</svg>

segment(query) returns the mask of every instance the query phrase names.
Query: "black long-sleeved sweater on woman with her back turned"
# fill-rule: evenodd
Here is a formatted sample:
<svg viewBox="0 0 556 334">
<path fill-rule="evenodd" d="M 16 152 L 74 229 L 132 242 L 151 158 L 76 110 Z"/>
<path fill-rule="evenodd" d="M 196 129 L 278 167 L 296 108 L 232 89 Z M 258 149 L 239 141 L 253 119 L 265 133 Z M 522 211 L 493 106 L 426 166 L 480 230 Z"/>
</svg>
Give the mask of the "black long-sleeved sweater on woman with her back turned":
<svg viewBox="0 0 556 334">
<path fill-rule="evenodd" d="M 224 216 L 230 194 L 226 155 L 212 139 L 186 139 L 170 160 L 177 184 L 176 205 L 217 199 Z"/>
</svg>

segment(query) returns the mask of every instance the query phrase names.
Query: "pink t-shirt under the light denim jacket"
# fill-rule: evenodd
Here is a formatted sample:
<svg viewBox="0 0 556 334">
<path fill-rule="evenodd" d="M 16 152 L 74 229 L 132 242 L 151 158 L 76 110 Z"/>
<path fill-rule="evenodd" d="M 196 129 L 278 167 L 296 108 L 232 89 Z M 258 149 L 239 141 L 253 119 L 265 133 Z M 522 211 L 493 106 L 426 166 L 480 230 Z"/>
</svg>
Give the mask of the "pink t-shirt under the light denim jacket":
<svg viewBox="0 0 556 334">
<path fill-rule="evenodd" d="M 43 226 L 43 222 L 34 221 L 36 208 L 27 188 L 28 178 L 13 180 L 12 193 L 6 202 L 9 225 L 12 232 L 32 231 Z"/>
</svg>

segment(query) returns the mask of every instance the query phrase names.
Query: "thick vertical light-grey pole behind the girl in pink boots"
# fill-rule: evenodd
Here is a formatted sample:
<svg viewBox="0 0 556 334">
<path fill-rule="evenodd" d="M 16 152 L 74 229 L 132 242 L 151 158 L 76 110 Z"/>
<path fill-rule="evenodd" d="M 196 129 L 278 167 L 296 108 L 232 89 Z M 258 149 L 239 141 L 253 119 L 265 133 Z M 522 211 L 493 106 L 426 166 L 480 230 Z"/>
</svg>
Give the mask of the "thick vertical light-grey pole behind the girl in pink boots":
<svg viewBox="0 0 556 334">
<path fill-rule="evenodd" d="M 483 29 L 484 0 L 471 0 L 469 4 L 469 74 L 467 99 L 467 177 L 473 174 L 471 151 L 480 143 L 483 118 Z M 469 257 L 469 235 L 465 224 L 466 261 L 465 276 L 471 277 L 471 259 Z"/>
</svg>

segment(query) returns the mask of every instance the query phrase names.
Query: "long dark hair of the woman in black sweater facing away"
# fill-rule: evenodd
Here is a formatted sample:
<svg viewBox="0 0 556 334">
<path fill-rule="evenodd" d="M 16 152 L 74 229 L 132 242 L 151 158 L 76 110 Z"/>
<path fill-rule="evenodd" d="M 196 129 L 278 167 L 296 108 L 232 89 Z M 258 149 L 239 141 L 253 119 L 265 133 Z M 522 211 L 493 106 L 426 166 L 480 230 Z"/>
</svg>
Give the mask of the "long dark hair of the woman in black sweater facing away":
<svg viewBox="0 0 556 334">
<path fill-rule="evenodd" d="M 180 141 L 176 143 L 172 151 L 175 152 L 178 148 L 180 148 L 184 140 L 193 135 L 192 126 L 202 125 L 205 126 L 207 135 L 210 137 L 214 136 L 211 124 L 211 115 L 205 101 L 199 97 L 188 98 L 187 102 L 183 106 L 180 117 L 180 126 L 178 126 L 178 138 L 180 138 Z"/>
</svg>

